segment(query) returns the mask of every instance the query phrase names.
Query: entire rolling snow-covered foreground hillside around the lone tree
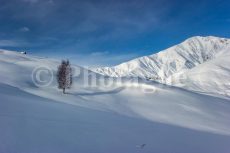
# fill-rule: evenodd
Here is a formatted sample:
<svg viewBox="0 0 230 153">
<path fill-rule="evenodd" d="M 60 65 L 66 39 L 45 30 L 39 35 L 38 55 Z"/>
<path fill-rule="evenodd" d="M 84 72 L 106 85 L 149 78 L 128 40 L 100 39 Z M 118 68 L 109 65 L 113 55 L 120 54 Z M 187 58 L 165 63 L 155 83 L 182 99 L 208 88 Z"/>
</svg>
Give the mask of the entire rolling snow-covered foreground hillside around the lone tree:
<svg viewBox="0 0 230 153">
<path fill-rule="evenodd" d="M 48 66 L 55 75 L 58 64 L 0 51 L 0 152 L 229 152 L 229 99 L 144 80 L 108 86 L 103 81 L 114 78 L 78 66 L 75 72 L 88 73 L 75 74 L 66 95 L 55 80 L 34 84 L 35 68 Z M 92 75 L 99 83 L 85 85 Z"/>
</svg>

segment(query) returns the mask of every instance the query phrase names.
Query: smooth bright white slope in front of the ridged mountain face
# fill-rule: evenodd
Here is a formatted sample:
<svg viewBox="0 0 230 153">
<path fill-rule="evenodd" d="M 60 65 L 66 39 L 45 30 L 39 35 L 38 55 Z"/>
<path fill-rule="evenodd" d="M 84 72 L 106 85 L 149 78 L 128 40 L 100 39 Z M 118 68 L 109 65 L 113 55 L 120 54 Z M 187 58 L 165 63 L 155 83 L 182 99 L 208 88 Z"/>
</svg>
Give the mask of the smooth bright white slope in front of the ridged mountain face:
<svg viewBox="0 0 230 153">
<path fill-rule="evenodd" d="M 230 49 L 216 59 L 210 60 L 185 72 L 167 78 L 167 84 L 185 89 L 230 96 Z"/>
</svg>

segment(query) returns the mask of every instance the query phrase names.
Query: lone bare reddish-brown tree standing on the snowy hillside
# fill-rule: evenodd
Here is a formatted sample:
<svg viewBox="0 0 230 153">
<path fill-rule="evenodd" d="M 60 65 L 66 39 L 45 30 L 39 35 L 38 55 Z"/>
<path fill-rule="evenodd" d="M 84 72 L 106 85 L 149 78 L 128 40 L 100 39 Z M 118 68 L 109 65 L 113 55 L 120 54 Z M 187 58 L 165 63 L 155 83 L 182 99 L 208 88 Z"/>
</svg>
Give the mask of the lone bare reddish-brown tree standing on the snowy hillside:
<svg viewBox="0 0 230 153">
<path fill-rule="evenodd" d="M 63 90 L 69 89 L 72 85 L 72 69 L 69 60 L 63 60 L 61 65 L 58 66 L 57 71 L 58 88 Z"/>
</svg>

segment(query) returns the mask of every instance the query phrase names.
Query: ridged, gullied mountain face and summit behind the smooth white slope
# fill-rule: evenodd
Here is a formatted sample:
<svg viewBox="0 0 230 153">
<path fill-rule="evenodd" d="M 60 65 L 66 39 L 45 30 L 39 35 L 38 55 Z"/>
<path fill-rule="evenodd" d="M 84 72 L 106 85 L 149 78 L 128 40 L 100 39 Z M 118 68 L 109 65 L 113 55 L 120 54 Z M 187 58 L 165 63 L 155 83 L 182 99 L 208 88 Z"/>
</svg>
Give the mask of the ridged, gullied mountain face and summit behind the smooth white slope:
<svg viewBox="0 0 230 153">
<path fill-rule="evenodd" d="M 175 73 L 222 56 L 229 47 L 230 39 L 196 36 L 157 54 L 95 71 L 112 77 L 134 76 L 164 82 Z"/>
</svg>

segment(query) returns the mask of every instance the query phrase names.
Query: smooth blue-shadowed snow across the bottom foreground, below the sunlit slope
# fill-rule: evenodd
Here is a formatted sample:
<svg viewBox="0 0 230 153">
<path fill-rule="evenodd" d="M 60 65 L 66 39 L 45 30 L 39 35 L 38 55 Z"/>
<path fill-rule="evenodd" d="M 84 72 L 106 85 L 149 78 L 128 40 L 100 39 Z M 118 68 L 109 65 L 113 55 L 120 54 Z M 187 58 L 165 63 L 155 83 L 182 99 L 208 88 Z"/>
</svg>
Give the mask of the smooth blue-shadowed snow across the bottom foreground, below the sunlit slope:
<svg viewBox="0 0 230 153">
<path fill-rule="evenodd" d="M 228 153 L 230 149 L 226 135 L 59 103 L 9 85 L 0 87 L 3 153 Z M 142 144 L 146 146 L 140 149 Z"/>
</svg>

